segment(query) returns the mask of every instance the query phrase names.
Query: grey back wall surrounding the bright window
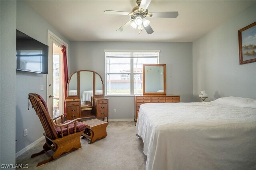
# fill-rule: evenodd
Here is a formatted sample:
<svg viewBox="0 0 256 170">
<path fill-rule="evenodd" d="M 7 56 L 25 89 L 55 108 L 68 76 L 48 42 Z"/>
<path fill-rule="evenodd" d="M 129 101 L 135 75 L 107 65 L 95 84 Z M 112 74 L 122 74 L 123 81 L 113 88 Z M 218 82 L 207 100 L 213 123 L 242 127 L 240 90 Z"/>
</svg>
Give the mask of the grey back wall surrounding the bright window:
<svg viewBox="0 0 256 170">
<path fill-rule="evenodd" d="M 192 43 L 71 42 L 70 74 L 82 69 L 96 71 L 105 84 L 104 49 L 160 49 L 159 63 L 166 64 L 166 94 L 180 95 L 181 102 L 192 101 Z M 134 118 L 134 97 L 108 98 L 109 119 Z"/>
</svg>

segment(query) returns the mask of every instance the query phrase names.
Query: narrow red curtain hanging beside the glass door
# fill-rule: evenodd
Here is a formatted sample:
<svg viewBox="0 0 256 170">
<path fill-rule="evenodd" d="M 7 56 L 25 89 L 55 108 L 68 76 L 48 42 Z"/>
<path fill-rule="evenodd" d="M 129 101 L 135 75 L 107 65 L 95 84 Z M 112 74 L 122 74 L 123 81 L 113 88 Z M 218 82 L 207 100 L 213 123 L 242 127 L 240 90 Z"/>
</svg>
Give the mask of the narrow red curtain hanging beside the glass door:
<svg viewBox="0 0 256 170">
<path fill-rule="evenodd" d="M 67 63 L 67 53 L 66 46 L 62 46 L 63 53 L 63 99 L 64 99 L 64 113 L 66 113 L 66 102 L 65 99 L 67 97 L 67 89 L 68 89 L 68 63 Z"/>
</svg>

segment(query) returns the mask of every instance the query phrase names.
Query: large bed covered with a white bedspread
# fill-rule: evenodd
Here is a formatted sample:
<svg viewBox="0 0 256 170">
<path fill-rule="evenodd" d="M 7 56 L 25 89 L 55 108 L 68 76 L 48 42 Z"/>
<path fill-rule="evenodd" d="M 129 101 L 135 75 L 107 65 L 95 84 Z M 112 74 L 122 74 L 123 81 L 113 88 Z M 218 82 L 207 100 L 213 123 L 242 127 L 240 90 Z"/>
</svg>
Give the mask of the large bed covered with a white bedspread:
<svg viewBox="0 0 256 170">
<path fill-rule="evenodd" d="M 256 169 L 256 100 L 140 106 L 147 170 Z"/>
</svg>

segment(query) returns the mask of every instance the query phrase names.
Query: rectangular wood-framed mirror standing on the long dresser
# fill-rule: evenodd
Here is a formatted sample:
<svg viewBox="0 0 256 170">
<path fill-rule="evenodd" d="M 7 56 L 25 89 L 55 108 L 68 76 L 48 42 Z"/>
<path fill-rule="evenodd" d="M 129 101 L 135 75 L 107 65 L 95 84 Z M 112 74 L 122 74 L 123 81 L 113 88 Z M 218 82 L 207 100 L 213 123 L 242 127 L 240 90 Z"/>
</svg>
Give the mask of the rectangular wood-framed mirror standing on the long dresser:
<svg viewBox="0 0 256 170">
<path fill-rule="evenodd" d="M 166 64 L 143 64 L 143 95 L 166 94 Z"/>
</svg>

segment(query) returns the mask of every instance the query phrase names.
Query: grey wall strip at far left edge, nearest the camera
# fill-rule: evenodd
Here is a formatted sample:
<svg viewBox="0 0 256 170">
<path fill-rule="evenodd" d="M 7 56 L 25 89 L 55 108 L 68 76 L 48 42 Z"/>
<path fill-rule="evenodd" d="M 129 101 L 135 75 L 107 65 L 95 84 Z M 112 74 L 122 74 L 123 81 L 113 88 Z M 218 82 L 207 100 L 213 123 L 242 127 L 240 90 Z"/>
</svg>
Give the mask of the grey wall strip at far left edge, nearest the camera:
<svg viewBox="0 0 256 170">
<path fill-rule="evenodd" d="M 0 1 L 0 164 L 15 164 L 16 1 Z"/>
</svg>

